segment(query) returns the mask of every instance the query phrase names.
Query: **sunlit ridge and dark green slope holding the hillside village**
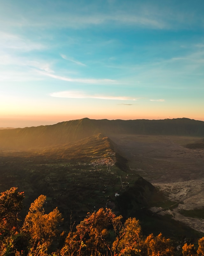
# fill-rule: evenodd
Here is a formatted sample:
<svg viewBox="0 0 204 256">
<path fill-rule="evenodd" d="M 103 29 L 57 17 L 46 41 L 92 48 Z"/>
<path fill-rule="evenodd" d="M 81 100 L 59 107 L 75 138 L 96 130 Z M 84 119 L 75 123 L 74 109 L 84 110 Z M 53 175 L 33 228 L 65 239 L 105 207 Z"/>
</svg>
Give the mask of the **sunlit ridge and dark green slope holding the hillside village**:
<svg viewBox="0 0 204 256">
<path fill-rule="evenodd" d="M 129 204 L 134 202 L 131 213 L 135 213 L 151 204 L 157 190 L 130 171 L 115 146 L 108 137 L 98 134 L 71 145 L 2 152 L 0 191 L 13 186 L 25 191 L 27 209 L 44 194 L 49 198 L 48 206 L 58 206 L 67 220 L 73 211 L 79 221 L 87 212 L 106 207 L 110 201 L 122 212 L 121 200 L 117 201 L 115 193 L 126 193 Z"/>
</svg>

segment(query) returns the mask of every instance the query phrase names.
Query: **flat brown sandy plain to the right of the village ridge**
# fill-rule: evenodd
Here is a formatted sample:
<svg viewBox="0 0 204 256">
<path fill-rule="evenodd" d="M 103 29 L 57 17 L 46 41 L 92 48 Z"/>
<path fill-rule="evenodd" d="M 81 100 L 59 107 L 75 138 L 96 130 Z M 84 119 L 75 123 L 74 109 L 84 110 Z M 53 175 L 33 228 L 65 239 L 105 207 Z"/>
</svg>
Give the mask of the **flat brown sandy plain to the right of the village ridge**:
<svg viewBox="0 0 204 256">
<path fill-rule="evenodd" d="M 204 219 L 185 217 L 181 210 L 204 209 L 204 150 L 185 145 L 200 138 L 179 136 L 117 135 L 109 136 L 119 153 L 128 159 L 130 169 L 141 175 L 178 202 L 171 214 L 175 220 L 204 232 Z M 162 210 L 152 208 L 153 212 Z M 204 210 L 203 210 L 204 212 Z"/>
</svg>

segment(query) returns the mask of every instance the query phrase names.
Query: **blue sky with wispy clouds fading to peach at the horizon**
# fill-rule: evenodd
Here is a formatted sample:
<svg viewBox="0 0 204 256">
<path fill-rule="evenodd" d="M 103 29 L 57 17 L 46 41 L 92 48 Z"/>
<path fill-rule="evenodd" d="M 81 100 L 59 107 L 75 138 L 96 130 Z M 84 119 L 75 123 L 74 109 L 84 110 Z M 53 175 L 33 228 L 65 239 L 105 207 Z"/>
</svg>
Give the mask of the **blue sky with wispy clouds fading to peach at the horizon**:
<svg viewBox="0 0 204 256">
<path fill-rule="evenodd" d="M 204 121 L 203 0 L 0 0 L 0 127 Z"/>
</svg>

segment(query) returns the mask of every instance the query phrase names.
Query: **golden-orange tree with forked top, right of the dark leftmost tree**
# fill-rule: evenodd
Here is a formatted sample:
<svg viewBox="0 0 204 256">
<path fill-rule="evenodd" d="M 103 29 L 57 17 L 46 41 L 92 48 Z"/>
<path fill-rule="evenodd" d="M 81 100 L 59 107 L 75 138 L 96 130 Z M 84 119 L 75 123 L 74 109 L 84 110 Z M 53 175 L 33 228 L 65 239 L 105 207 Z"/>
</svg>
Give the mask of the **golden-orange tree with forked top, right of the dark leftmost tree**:
<svg viewBox="0 0 204 256">
<path fill-rule="evenodd" d="M 57 233 L 57 226 L 63 220 L 62 214 L 57 207 L 50 213 L 45 214 L 43 204 L 46 196 L 40 195 L 31 204 L 29 212 L 25 217 L 23 230 L 29 232 L 33 241 L 39 241 L 49 246 Z"/>
</svg>

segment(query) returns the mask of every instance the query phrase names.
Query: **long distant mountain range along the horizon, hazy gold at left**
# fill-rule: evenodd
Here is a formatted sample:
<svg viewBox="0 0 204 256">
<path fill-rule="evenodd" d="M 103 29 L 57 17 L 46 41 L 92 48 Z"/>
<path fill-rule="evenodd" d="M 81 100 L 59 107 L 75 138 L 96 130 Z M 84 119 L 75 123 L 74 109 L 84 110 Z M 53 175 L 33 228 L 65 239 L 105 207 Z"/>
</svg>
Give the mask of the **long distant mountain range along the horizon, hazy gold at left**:
<svg viewBox="0 0 204 256">
<path fill-rule="evenodd" d="M 164 120 L 93 120 L 83 118 L 53 125 L 0 130 L 1 150 L 68 144 L 102 133 L 204 137 L 204 122 L 188 118 Z"/>
</svg>

